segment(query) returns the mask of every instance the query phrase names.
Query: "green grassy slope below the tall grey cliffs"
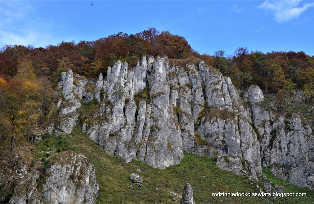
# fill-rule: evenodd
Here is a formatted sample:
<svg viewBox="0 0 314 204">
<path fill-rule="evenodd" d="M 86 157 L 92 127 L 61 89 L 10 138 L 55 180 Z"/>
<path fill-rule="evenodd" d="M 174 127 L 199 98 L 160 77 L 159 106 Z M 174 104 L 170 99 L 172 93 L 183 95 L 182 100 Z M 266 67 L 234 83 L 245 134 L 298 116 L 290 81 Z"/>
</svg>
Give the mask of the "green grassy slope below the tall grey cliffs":
<svg viewBox="0 0 314 204">
<path fill-rule="evenodd" d="M 99 183 L 98 203 L 174 203 L 173 195 L 166 191 L 182 195 L 185 183 L 194 190 L 196 203 L 264 203 L 266 198 L 253 197 L 213 197 L 216 192 L 259 192 L 255 183 L 245 176 L 238 176 L 221 170 L 208 157 L 186 154 L 180 164 L 166 169 L 152 168 L 146 163 L 134 160 L 125 163 L 120 157 L 106 154 L 98 145 L 90 141 L 79 128 L 69 135 L 69 143 L 76 146 L 75 151 L 84 154 L 96 168 Z M 142 172 L 138 173 L 137 169 Z M 268 179 L 286 188 L 286 192 L 306 192 L 306 197 L 279 198 L 275 203 L 314 203 L 314 191 L 297 187 L 274 177 L 269 169 L 263 169 Z M 144 178 L 142 187 L 134 185 L 129 175 L 137 173 Z M 133 186 L 133 190 L 129 188 Z M 159 190 L 155 190 L 159 188 Z M 180 192 L 178 191 L 180 190 Z M 176 197 L 175 197 L 176 198 Z M 176 198 L 178 200 L 178 198 Z"/>
</svg>

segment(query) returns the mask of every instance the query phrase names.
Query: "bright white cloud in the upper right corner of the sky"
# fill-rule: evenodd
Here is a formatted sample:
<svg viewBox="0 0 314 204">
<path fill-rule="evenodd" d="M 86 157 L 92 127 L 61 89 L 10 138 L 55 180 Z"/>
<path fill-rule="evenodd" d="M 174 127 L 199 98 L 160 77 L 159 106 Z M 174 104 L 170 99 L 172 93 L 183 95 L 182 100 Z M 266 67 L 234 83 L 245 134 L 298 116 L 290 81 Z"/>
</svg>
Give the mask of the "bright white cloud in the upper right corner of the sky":
<svg viewBox="0 0 314 204">
<path fill-rule="evenodd" d="M 283 23 L 288 22 L 300 16 L 306 9 L 314 6 L 312 3 L 304 3 L 299 6 L 301 0 L 292 1 L 265 1 L 263 4 L 257 6 L 257 8 L 271 11 L 274 14 L 274 20 Z"/>
</svg>

